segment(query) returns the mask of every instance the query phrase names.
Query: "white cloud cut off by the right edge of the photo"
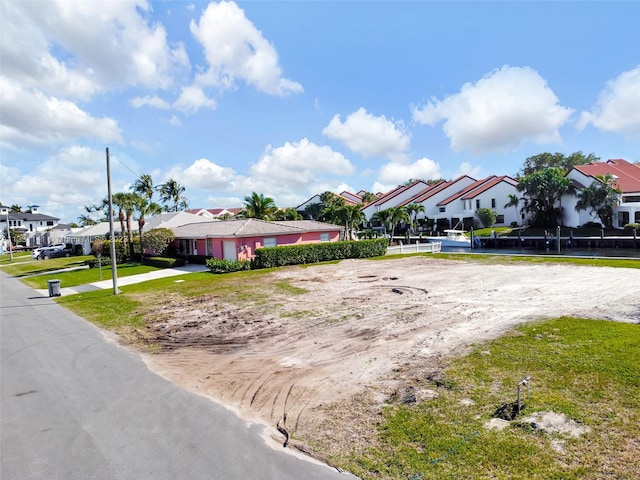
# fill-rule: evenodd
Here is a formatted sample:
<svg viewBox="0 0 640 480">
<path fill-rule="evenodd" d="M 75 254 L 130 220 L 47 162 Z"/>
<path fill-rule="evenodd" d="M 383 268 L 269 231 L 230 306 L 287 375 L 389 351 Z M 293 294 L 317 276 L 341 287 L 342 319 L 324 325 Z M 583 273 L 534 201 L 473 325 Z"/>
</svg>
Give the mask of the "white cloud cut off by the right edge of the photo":
<svg viewBox="0 0 640 480">
<path fill-rule="evenodd" d="M 591 112 L 582 112 L 577 127 L 640 135 L 640 66 L 607 82 Z"/>
</svg>

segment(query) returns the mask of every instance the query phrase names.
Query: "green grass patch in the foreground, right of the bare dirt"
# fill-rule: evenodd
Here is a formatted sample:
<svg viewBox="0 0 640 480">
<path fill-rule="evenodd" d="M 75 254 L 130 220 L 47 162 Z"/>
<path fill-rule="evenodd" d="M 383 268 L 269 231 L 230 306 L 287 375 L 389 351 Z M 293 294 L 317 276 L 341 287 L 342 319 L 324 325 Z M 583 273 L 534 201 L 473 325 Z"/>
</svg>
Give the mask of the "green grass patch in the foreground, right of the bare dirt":
<svg viewBox="0 0 640 480">
<path fill-rule="evenodd" d="M 363 479 L 634 479 L 640 473 L 640 326 L 560 318 L 449 362 L 416 388 L 438 398 L 383 409 L 373 445 L 331 460 Z M 563 413 L 574 438 L 485 422 L 531 377 L 521 416 Z M 472 400 L 467 405 L 463 400 Z M 558 450 L 552 446 L 561 445 Z"/>
</svg>

